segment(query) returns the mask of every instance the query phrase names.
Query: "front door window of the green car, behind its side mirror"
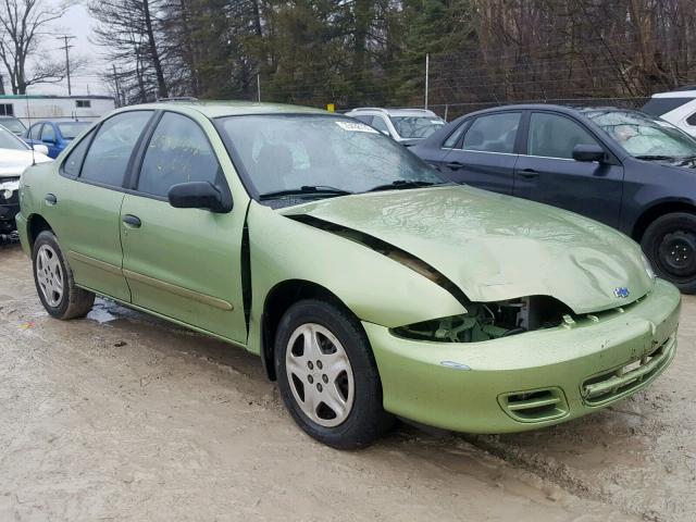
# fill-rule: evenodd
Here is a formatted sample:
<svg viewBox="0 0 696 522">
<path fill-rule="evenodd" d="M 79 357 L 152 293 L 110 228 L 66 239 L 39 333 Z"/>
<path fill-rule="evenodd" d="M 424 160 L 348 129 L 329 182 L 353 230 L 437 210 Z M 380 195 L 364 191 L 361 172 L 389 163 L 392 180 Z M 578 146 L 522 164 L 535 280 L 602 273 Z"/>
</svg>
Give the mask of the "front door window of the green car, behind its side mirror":
<svg viewBox="0 0 696 522">
<path fill-rule="evenodd" d="M 173 185 L 188 182 L 220 186 L 222 169 L 202 128 L 187 116 L 166 112 L 148 144 L 138 191 L 164 198 Z"/>
</svg>

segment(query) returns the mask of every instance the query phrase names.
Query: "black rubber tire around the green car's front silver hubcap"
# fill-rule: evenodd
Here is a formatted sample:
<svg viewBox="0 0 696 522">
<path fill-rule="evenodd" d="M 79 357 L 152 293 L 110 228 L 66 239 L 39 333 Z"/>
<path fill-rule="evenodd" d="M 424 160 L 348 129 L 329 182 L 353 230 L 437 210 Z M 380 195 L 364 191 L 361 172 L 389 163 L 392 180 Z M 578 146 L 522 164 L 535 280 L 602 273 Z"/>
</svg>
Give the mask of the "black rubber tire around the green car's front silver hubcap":
<svg viewBox="0 0 696 522">
<path fill-rule="evenodd" d="M 341 343 L 352 368 L 352 409 L 348 418 L 335 427 L 321 426 L 309 419 L 297 403 L 288 383 L 285 368 L 287 344 L 295 330 L 306 323 L 316 323 L 331 331 Z M 388 427 L 390 415 L 382 406 L 382 384 L 368 337 L 347 310 L 313 299 L 295 303 L 278 324 L 274 359 L 283 400 L 293 419 L 313 438 L 335 448 L 353 449 L 374 442 Z"/>
</svg>

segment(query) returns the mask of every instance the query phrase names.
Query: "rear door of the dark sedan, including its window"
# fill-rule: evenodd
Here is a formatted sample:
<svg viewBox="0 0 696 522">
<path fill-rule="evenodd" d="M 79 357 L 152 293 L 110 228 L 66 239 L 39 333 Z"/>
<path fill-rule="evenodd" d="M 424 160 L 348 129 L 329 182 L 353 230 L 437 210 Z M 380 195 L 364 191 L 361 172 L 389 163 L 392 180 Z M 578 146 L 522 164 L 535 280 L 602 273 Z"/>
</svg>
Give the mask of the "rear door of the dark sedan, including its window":
<svg viewBox="0 0 696 522">
<path fill-rule="evenodd" d="M 521 119 L 519 111 L 476 117 L 465 128 L 463 139 L 445 156 L 439 171 L 456 183 L 512 194 Z"/>
</svg>

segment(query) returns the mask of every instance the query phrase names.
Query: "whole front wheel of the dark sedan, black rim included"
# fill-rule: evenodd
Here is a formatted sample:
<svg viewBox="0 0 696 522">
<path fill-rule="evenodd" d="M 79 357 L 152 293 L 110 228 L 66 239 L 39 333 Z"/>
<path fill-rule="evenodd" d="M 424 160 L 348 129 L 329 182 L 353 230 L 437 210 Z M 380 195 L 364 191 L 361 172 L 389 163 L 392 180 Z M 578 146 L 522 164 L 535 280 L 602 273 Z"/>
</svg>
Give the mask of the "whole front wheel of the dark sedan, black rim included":
<svg viewBox="0 0 696 522">
<path fill-rule="evenodd" d="M 655 220 L 641 240 L 656 274 L 684 294 L 696 293 L 696 215 L 664 214 Z"/>
</svg>

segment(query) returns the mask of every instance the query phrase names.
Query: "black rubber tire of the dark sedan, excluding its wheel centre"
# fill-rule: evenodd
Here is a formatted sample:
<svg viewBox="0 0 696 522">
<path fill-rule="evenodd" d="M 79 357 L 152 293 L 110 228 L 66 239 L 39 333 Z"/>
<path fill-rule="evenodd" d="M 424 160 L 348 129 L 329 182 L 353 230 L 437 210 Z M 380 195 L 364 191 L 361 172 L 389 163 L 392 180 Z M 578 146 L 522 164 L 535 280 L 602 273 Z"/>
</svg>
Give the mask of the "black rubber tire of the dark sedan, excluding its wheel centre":
<svg viewBox="0 0 696 522">
<path fill-rule="evenodd" d="M 658 217 L 645 231 L 641 248 L 650 260 L 650 264 L 659 277 L 669 281 L 684 294 L 696 294 L 696 274 L 688 279 L 676 278 L 666 271 L 659 261 L 659 246 L 662 237 L 680 229 L 692 229 L 696 233 L 696 214 L 674 212 Z"/>
</svg>

